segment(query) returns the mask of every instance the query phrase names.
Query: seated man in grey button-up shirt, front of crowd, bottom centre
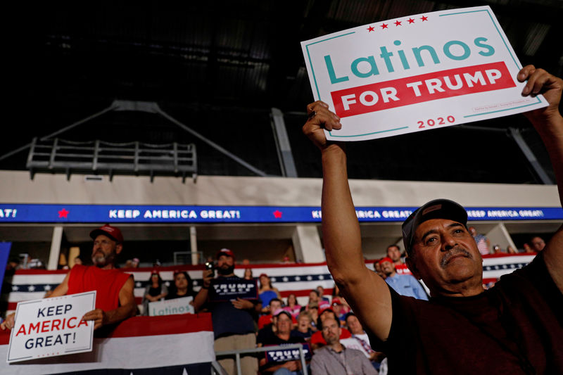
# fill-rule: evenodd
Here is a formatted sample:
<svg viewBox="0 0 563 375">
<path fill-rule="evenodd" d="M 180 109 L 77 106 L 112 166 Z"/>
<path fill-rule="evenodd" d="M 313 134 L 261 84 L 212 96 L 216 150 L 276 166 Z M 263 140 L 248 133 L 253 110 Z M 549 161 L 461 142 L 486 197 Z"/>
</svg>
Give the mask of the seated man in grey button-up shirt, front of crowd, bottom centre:
<svg viewBox="0 0 563 375">
<path fill-rule="evenodd" d="M 327 342 L 312 356 L 312 375 L 377 375 L 369 360 L 360 350 L 346 348 L 340 343 L 342 329 L 336 319 L 328 317 L 322 323 L 322 337 Z"/>
</svg>

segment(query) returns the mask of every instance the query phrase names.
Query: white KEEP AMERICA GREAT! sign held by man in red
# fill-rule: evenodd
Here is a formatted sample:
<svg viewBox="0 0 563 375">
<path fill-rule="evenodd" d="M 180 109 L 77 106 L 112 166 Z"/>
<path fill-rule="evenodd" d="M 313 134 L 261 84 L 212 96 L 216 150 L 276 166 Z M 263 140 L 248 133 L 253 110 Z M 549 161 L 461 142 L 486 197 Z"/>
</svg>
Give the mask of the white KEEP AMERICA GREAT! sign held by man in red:
<svg viewBox="0 0 563 375">
<path fill-rule="evenodd" d="M 8 363 L 90 352 L 94 321 L 81 319 L 95 305 L 96 291 L 18 303 Z"/>
</svg>

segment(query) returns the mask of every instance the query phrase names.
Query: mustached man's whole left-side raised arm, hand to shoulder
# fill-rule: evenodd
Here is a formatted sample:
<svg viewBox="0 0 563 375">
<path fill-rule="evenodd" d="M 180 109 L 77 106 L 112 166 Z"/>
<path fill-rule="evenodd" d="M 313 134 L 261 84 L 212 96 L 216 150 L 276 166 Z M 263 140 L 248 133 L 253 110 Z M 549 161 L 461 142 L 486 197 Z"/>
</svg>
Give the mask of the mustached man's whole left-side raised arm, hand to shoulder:
<svg viewBox="0 0 563 375">
<path fill-rule="evenodd" d="M 327 142 L 323 132 L 323 127 L 340 129 L 340 119 L 321 101 L 310 104 L 308 113 L 303 133 L 322 154 L 322 234 L 329 271 L 362 324 L 385 340 L 391 329 L 391 294 L 385 281 L 365 267 L 346 151 L 342 144 Z"/>
</svg>

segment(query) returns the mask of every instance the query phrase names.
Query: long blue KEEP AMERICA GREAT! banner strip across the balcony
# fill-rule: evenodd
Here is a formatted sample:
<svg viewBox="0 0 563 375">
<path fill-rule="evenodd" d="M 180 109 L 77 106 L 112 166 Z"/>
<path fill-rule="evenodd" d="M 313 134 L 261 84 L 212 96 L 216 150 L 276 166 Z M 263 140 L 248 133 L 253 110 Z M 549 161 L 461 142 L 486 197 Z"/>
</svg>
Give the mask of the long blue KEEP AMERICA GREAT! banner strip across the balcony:
<svg viewBox="0 0 563 375">
<path fill-rule="evenodd" d="M 360 222 L 403 222 L 415 207 L 357 207 Z M 563 220 L 559 207 L 467 207 L 469 220 Z M 320 222 L 320 207 L 218 205 L 0 204 L 0 222 L 275 223 Z"/>
</svg>

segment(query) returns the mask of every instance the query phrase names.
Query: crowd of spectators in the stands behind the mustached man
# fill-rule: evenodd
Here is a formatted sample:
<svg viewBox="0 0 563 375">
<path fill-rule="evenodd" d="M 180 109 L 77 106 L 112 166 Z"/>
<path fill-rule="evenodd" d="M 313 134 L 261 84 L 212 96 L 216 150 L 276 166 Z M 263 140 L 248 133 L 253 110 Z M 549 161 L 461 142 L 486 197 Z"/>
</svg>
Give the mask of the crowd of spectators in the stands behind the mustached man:
<svg viewBox="0 0 563 375">
<path fill-rule="evenodd" d="M 472 233 L 477 245 L 481 246 L 479 250 L 489 246 L 485 236 L 476 234 L 476 230 Z M 118 252 L 115 250 L 121 246 L 122 236 L 118 229 L 106 225 L 92 231 L 91 236 L 94 239 L 92 258 L 94 262 L 97 259 L 97 262 L 105 265 L 104 267 L 111 266 L 108 270 L 118 272 L 113 267 L 115 257 L 112 258 L 111 255 L 112 252 L 117 255 Z M 102 248 L 103 246 L 106 248 Z M 541 251 L 543 246 L 545 242 L 540 237 L 531 239 L 532 252 Z M 492 249 L 494 251 L 495 246 Z M 393 244 L 388 246 L 386 257 L 374 262 L 374 269 L 397 293 L 428 300 L 424 286 L 412 276 L 404 260 L 405 256 L 401 253 L 400 247 Z M 148 314 L 148 304 L 151 302 L 192 297 L 194 300 L 191 305 L 194 305 L 196 312 L 208 311 L 212 314 L 216 351 L 303 343 L 307 344 L 313 353 L 312 360 L 308 360 L 309 370 L 313 374 L 340 374 L 341 371 L 334 370 L 338 366 L 344 366 L 348 373 L 353 374 L 377 374 L 378 371 L 379 374 L 386 374 L 384 353 L 372 349 L 360 320 L 350 309 L 336 284 L 332 288 L 330 298 L 325 294 L 322 286 L 317 286 L 310 291 L 308 302 L 299 305 L 296 294 L 291 293 L 286 298 L 281 298 L 279 290 L 272 285 L 267 274 L 260 274 L 255 278 L 252 269 L 247 267 L 241 280 L 256 283 L 258 299 L 213 300 L 214 289 L 210 286 L 214 282 L 218 279 L 227 281 L 240 279 L 234 275 L 234 253 L 231 250 L 220 250 L 213 262 L 215 269 L 204 271 L 203 287 L 198 293 L 194 291 L 194 282 L 187 272 L 175 271 L 173 283 L 167 285 L 168 283 L 163 282 L 160 277 L 158 269 L 153 269 L 144 290 L 141 314 Z M 80 258 L 75 259 L 75 265 L 85 267 Z M 138 265 L 137 258 L 126 262 L 128 268 L 135 268 Z M 17 267 L 18 260 L 10 260 L 7 274 L 13 274 Z M 85 267 L 83 271 L 89 269 Z M 215 270 L 218 273 L 217 277 Z M 123 283 L 123 280 L 120 283 Z M 121 288 L 126 288 L 126 285 L 127 283 L 122 284 Z M 57 295 L 61 293 L 61 291 L 56 292 Z M 130 307 L 131 300 L 125 298 L 123 304 Z M 121 308 L 112 307 L 114 310 L 116 307 Z M 130 311 L 119 314 L 113 322 L 131 315 Z M 92 317 L 92 319 L 97 318 Z M 6 327 L 10 328 L 9 323 Z M 232 360 L 222 360 L 220 363 L 229 374 L 234 374 Z M 268 362 L 262 353 L 258 356 L 243 356 L 242 363 L 244 374 L 301 374 L 301 361 L 298 359 Z"/>
</svg>

